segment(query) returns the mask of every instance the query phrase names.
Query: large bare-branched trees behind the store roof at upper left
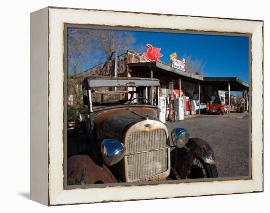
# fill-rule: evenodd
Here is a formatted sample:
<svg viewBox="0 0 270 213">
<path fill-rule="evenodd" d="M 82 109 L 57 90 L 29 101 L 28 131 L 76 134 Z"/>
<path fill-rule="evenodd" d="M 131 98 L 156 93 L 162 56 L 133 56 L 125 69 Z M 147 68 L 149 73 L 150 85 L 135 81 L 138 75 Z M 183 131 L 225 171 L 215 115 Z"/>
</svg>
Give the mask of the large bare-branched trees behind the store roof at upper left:
<svg viewBox="0 0 270 213">
<path fill-rule="evenodd" d="M 132 32 L 122 30 L 102 30 L 69 28 L 68 31 L 68 70 L 77 75 L 99 63 L 113 58 L 128 49 L 140 51 L 142 45 L 135 45 Z"/>
</svg>

